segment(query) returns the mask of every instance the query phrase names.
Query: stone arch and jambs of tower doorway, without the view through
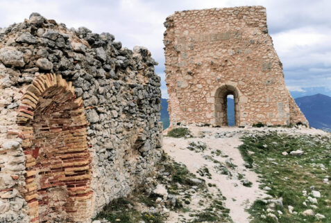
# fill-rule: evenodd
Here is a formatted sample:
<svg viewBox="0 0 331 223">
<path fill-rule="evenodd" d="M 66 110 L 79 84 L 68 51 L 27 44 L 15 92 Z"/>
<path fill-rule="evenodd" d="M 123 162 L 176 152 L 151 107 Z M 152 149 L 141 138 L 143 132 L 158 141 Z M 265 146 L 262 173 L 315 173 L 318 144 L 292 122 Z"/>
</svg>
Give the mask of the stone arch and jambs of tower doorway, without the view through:
<svg viewBox="0 0 331 223">
<path fill-rule="evenodd" d="M 235 101 L 235 125 L 239 125 L 239 91 L 236 87 L 229 84 L 224 84 L 219 87 L 215 93 L 215 125 L 228 126 L 228 96 L 232 95 Z"/>
</svg>

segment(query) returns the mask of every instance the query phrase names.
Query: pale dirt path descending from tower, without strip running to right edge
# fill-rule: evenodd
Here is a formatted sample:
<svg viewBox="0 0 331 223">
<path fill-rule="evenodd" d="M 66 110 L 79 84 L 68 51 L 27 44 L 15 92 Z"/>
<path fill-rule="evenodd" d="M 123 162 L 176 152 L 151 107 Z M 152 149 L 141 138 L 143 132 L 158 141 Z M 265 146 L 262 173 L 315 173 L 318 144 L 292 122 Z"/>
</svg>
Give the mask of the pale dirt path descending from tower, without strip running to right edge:
<svg viewBox="0 0 331 223">
<path fill-rule="evenodd" d="M 187 149 L 189 143 L 197 143 L 198 141 L 206 143 L 207 150 L 194 152 Z M 239 145 L 241 145 L 239 136 L 223 139 L 215 139 L 212 135 L 201 139 L 173 139 L 165 137 L 163 149 L 175 161 L 184 163 L 187 169 L 194 174 L 200 168 L 206 167 L 210 171 L 212 179 L 201 177 L 198 174 L 197 176 L 205 179 L 207 184 L 216 184 L 217 188 L 221 190 L 223 196 L 227 198 L 225 201 L 226 208 L 230 209 L 230 217 L 234 222 L 248 222 L 249 214 L 245 209 L 249 208 L 255 199 L 261 197 L 264 193 L 259 189 L 258 177 L 255 172 L 244 167 L 244 160 L 237 149 Z M 217 150 L 221 151 L 223 157 L 214 155 L 213 159 L 221 163 L 226 163 L 227 160 L 232 159 L 232 163 L 237 166 L 234 169 L 228 168 L 232 177 L 218 173 L 217 169 L 214 168 L 214 161 L 204 158 L 206 155 L 212 155 L 212 151 L 216 152 Z M 252 186 L 244 186 L 238 179 L 238 173 L 244 175 L 248 181 L 251 181 L 253 183 Z"/>
</svg>

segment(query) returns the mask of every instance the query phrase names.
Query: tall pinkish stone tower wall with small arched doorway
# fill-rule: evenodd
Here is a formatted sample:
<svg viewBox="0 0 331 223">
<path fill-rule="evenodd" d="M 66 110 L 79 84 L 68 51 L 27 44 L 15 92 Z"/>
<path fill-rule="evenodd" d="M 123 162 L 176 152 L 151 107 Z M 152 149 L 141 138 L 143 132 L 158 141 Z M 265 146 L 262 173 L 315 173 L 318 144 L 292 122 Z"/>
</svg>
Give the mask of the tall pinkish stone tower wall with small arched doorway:
<svg viewBox="0 0 331 223">
<path fill-rule="evenodd" d="M 285 86 L 264 7 L 175 12 L 164 26 L 171 125 L 227 125 L 229 94 L 237 126 L 308 124 Z"/>
</svg>

